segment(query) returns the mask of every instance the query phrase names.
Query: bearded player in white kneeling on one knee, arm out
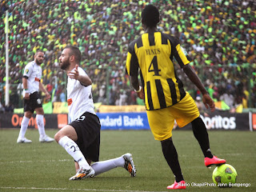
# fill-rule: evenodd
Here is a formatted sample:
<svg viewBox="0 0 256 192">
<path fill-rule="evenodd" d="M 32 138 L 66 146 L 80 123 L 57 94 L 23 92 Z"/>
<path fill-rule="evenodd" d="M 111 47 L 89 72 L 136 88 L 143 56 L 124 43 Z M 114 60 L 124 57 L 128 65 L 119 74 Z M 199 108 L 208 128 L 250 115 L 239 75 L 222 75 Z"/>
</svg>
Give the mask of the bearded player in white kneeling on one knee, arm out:
<svg viewBox="0 0 256 192">
<path fill-rule="evenodd" d="M 76 46 L 66 46 L 59 57 L 60 67 L 68 76 L 67 102 L 71 122 L 54 138 L 74 158 L 77 173 L 70 180 L 91 178 L 115 167 L 123 167 L 135 177 L 136 169 L 129 153 L 98 162 L 101 124 L 94 112 L 92 82 L 79 67 L 80 61 L 81 52 Z"/>
</svg>

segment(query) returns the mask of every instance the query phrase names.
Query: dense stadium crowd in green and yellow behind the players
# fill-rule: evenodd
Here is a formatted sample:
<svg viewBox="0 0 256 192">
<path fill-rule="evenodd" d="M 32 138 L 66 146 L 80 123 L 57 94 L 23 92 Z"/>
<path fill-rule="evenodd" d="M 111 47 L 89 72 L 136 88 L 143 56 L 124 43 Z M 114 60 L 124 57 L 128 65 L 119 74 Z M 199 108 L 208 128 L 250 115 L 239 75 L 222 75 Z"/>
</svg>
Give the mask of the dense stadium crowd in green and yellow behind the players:
<svg viewBox="0 0 256 192">
<path fill-rule="evenodd" d="M 5 11 L 8 10 L 10 84 L 15 85 L 11 86 L 11 93 L 18 93 L 22 69 L 40 49 L 46 53 L 43 84 L 48 91 L 55 90 L 54 101 L 65 101 L 65 75 L 59 69 L 58 57 L 71 44 L 82 51 L 81 66 L 94 82 L 94 102 L 140 103 L 131 89 L 125 64 L 130 40 L 143 32 L 139 21 L 146 2 L 158 6 L 160 29 L 179 38 L 194 59 L 191 65 L 216 101 L 226 101 L 230 107 L 241 103 L 245 108 L 256 107 L 254 0 L 2 1 L 0 87 L 6 81 Z M 182 78 L 184 86 L 193 98 L 200 96 L 185 79 Z M 3 96 L 4 91 L 1 93 Z"/>
</svg>

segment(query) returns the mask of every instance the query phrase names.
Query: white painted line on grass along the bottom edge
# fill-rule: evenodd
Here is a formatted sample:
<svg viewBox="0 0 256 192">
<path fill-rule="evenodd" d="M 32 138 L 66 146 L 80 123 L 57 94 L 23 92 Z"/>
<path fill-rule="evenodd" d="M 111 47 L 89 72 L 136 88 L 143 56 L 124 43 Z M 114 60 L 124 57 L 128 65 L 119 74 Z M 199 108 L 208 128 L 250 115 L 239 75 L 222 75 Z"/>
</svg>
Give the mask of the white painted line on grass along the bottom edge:
<svg viewBox="0 0 256 192">
<path fill-rule="evenodd" d="M 0 186 L 0 189 L 10 190 L 80 190 L 80 191 L 110 191 L 110 192 L 153 192 L 147 190 L 96 190 L 96 189 L 69 189 L 69 188 L 38 188 L 38 187 L 12 187 L 12 186 Z M 158 191 L 164 192 L 164 191 Z"/>
</svg>

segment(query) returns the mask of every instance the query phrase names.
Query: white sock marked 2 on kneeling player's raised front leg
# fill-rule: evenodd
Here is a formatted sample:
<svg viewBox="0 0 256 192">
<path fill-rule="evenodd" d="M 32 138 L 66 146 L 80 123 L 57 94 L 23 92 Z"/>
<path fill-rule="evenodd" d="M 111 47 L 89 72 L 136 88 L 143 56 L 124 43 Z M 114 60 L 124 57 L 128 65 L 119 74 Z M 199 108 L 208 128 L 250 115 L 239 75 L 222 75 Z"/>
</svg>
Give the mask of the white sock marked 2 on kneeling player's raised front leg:
<svg viewBox="0 0 256 192">
<path fill-rule="evenodd" d="M 86 158 L 83 156 L 78 145 L 72 139 L 64 136 L 58 141 L 58 144 L 60 144 L 66 150 L 66 152 L 70 154 L 76 162 L 78 162 L 79 167 L 90 170 L 90 165 L 86 161 Z"/>
</svg>

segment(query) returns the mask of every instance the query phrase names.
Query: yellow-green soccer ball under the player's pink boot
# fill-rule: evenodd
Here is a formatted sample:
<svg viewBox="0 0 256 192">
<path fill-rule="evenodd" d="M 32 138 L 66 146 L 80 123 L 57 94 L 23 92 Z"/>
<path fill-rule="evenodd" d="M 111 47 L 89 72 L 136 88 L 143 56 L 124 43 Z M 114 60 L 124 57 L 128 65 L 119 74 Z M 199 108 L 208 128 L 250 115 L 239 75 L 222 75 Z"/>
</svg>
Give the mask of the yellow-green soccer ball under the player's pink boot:
<svg viewBox="0 0 256 192">
<path fill-rule="evenodd" d="M 218 186 L 232 186 L 230 183 L 235 183 L 237 179 L 237 171 L 229 164 L 217 166 L 213 172 L 213 181 Z"/>
</svg>

